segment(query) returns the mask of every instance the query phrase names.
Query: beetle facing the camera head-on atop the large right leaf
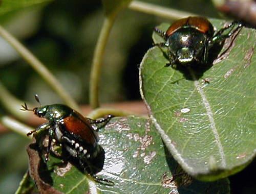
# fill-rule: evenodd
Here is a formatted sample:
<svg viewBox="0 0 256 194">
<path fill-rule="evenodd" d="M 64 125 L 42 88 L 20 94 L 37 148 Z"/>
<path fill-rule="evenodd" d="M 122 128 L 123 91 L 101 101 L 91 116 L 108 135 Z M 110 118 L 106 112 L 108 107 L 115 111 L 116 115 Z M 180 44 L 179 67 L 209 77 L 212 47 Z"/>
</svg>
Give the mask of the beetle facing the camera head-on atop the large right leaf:
<svg viewBox="0 0 256 194">
<path fill-rule="evenodd" d="M 165 42 L 156 44 L 160 47 L 167 47 L 169 65 L 195 66 L 206 64 L 208 52 L 216 43 L 220 43 L 235 32 L 242 25 L 233 29 L 236 22 L 232 22 L 219 31 L 214 31 L 214 27 L 205 17 L 187 17 L 174 22 L 166 32 L 155 28 Z M 230 29 L 226 34 L 225 30 Z"/>
</svg>

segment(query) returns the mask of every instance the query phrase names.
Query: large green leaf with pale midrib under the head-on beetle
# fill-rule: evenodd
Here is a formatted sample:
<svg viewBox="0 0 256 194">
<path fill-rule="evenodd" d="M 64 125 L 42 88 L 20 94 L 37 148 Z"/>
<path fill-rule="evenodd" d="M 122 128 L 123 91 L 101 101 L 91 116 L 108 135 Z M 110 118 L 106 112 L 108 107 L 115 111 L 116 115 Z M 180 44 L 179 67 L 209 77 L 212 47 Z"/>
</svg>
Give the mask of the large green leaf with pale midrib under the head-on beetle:
<svg viewBox="0 0 256 194">
<path fill-rule="evenodd" d="M 182 168 L 198 179 L 227 177 L 255 156 L 255 35 L 243 28 L 226 39 L 221 57 L 205 71 L 164 67 L 168 60 L 157 46 L 140 64 L 140 92 L 152 122 Z"/>
</svg>

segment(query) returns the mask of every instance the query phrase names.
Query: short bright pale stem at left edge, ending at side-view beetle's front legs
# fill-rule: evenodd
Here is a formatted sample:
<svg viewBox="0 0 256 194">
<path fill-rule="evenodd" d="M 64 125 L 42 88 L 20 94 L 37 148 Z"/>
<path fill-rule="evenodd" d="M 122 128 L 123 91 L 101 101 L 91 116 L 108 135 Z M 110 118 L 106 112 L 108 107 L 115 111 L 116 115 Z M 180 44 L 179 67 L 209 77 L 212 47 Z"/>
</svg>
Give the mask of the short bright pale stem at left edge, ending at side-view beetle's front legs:
<svg viewBox="0 0 256 194">
<path fill-rule="evenodd" d="M 9 116 L 0 116 L 0 122 L 8 129 L 11 129 L 12 131 L 15 131 L 26 137 L 28 132 L 34 130 L 33 128 L 18 122 L 17 120 L 10 118 Z M 30 138 L 31 137 L 32 136 L 30 136 Z"/>
</svg>

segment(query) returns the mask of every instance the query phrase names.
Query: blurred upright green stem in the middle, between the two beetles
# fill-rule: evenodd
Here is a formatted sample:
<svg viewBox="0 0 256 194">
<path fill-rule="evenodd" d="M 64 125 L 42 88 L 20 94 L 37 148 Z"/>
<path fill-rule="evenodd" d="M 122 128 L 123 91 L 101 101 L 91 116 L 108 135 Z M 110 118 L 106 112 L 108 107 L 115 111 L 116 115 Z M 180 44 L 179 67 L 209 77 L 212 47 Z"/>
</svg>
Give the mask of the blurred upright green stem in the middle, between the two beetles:
<svg viewBox="0 0 256 194">
<path fill-rule="evenodd" d="M 93 109 L 99 107 L 99 82 L 106 43 L 116 17 L 105 17 L 93 56 L 90 78 L 90 105 Z"/>
</svg>

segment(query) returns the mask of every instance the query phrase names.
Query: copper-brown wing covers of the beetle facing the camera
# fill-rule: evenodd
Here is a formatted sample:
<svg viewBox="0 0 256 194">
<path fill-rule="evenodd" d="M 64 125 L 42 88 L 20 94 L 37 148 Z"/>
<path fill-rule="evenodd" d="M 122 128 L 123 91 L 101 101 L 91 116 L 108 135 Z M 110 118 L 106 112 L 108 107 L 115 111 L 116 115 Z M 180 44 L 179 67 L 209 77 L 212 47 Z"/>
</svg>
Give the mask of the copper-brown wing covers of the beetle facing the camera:
<svg viewBox="0 0 256 194">
<path fill-rule="evenodd" d="M 197 29 L 199 32 L 206 34 L 208 31 L 212 31 L 213 27 L 211 23 L 204 17 L 186 17 L 175 21 L 166 31 L 166 36 L 171 36 L 177 30 L 187 26 Z M 211 28 L 211 29 L 210 29 Z"/>
</svg>

